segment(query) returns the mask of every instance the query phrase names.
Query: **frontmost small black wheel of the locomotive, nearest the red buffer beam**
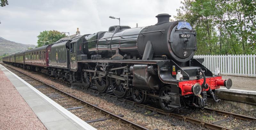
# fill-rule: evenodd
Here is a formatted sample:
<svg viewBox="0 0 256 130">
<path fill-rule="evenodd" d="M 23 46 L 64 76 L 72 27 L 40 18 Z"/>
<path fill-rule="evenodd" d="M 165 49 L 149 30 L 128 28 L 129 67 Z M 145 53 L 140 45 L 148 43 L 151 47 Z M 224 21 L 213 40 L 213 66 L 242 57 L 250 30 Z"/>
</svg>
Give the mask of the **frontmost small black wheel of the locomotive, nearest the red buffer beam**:
<svg viewBox="0 0 256 130">
<path fill-rule="evenodd" d="M 171 101 L 171 94 L 168 94 L 168 93 L 171 91 L 172 91 L 171 86 L 167 85 L 167 86 L 164 86 L 159 92 L 159 104 L 166 112 L 172 112 L 176 109 L 174 107 L 169 106 L 171 105 L 172 101 Z"/>
</svg>

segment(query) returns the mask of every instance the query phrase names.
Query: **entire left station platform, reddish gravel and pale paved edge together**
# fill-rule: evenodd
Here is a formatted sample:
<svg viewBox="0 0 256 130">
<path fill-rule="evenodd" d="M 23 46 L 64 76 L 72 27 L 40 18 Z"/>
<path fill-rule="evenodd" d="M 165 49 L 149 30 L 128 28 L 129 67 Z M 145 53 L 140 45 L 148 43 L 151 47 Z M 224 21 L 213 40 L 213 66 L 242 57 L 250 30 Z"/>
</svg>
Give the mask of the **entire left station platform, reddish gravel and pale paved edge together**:
<svg viewBox="0 0 256 130">
<path fill-rule="evenodd" d="M 0 79 L 0 129 L 96 130 L 2 65 Z"/>
</svg>

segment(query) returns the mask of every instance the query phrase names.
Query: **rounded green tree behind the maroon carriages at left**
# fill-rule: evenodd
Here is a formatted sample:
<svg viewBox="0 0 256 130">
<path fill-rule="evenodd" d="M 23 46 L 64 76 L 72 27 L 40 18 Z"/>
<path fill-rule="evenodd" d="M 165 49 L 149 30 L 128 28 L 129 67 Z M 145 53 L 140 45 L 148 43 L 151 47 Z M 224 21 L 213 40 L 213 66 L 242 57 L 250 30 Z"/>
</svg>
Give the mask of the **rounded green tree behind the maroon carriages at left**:
<svg viewBox="0 0 256 130">
<path fill-rule="evenodd" d="M 37 38 L 38 38 L 37 47 L 44 46 L 44 42 L 41 42 L 41 41 L 49 41 L 49 42 L 45 42 L 45 45 L 49 45 L 49 44 L 52 44 L 64 37 L 66 37 L 66 34 L 62 34 L 59 31 L 56 31 L 56 30 L 46 31 L 45 30 L 43 32 L 40 32 L 40 34 L 37 36 Z"/>
</svg>

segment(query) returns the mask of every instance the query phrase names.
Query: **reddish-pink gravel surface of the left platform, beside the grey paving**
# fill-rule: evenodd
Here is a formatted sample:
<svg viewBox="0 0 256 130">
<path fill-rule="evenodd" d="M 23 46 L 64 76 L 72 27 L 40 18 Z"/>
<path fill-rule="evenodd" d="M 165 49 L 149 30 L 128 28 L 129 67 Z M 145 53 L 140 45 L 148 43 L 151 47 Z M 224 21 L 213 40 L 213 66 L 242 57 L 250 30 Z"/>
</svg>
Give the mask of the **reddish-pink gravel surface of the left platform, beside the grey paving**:
<svg viewBox="0 0 256 130">
<path fill-rule="evenodd" d="M 1 69 L 0 82 L 0 129 L 46 130 Z"/>
</svg>

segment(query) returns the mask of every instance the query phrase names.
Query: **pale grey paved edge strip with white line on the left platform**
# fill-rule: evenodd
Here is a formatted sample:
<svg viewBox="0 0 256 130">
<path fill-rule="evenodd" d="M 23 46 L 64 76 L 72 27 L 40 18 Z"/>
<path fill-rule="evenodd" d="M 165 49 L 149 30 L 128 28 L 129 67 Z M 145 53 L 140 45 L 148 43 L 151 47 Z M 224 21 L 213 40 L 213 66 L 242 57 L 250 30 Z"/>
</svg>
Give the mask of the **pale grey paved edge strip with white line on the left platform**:
<svg viewBox="0 0 256 130">
<path fill-rule="evenodd" d="M 0 65 L 0 69 L 18 90 L 36 116 L 49 130 L 96 130 L 17 75 Z M 3 81 L 2 81 L 3 82 Z M 36 129 L 36 128 L 35 128 Z"/>
</svg>

